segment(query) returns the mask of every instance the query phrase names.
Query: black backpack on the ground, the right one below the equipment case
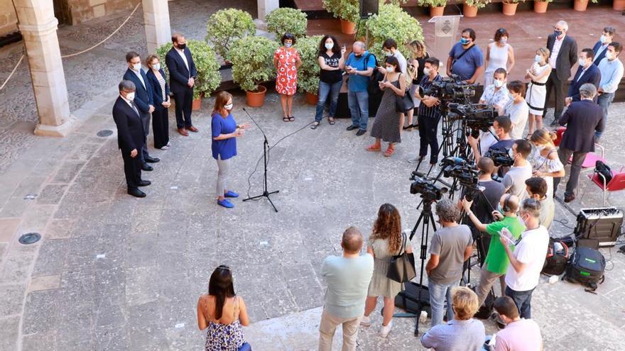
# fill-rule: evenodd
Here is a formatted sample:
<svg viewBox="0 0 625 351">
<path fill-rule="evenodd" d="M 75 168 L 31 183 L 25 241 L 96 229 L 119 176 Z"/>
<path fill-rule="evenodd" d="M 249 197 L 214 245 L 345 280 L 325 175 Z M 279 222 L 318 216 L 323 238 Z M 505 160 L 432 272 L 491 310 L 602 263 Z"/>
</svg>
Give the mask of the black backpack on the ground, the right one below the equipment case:
<svg viewBox="0 0 625 351">
<path fill-rule="evenodd" d="M 589 286 L 589 291 L 594 291 L 597 284 L 603 283 L 604 271 L 605 257 L 599 250 L 577 247 L 567 264 L 564 279 L 567 282 Z"/>
</svg>

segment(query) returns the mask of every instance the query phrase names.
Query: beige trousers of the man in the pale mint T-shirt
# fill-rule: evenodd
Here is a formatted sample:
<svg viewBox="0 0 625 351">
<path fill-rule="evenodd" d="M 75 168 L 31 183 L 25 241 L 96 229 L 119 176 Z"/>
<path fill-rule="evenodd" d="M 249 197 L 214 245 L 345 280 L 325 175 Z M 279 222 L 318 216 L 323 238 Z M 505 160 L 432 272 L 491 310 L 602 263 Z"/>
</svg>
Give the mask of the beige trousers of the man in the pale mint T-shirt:
<svg viewBox="0 0 625 351">
<path fill-rule="evenodd" d="M 321 323 L 319 324 L 319 351 L 332 351 L 332 338 L 334 338 L 339 324 L 343 325 L 343 347 L 341 350 L 355 351 L 361 320 L 362 315 L 353 318 L 341 318 L 333 316 L 332 313 L 325 311 L 324 308 L 321 313 Z"/>
</svg>

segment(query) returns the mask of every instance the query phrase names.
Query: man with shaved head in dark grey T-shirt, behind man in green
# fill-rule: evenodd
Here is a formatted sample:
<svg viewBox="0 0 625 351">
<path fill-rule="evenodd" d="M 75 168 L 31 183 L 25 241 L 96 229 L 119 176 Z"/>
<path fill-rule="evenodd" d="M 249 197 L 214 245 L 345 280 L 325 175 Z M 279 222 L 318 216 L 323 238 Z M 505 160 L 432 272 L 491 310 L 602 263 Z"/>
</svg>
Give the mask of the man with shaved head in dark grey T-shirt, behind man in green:
<svg viewBox="0 0 625 351">
<path fill-rule="evenodd" d="M 470 210 L 475 214 L 481 223 L 491 223 L 493 221 L 492 211 L 497 208 L 501 195 L 504 194 L 504 186 L 500 182 L 496 182 L 492 179 L 492 174 L 495 171 L 495 164 L 489 157 L 482 157 L 477 162 L 477 169 L 479 169 L 479 175 L 477 179 L 477 186 L 483 188 L 477 196 L 474 196 L 473 205 Z M 466 191 L 465 191 L 466 194 Z M 463 194 L 464 197 L 464 194 Z M 458 202 L 459 208 L 462 209 L 462 202 Z M 473 225 L 472 221 L 465 217 L 464 224 L 469 225 L 473 232 L 473 238 L 479 238 L 481 235 L 479 230 Z M 481 258 L 480 264 L 484 264 L 484 258 L 487 256 L 487 248 L 490 245 L 490 238 L 483 237 L 481 243 L 478 243 L 477 250 L 479 250 L 479 257 Z"/>
</svg>

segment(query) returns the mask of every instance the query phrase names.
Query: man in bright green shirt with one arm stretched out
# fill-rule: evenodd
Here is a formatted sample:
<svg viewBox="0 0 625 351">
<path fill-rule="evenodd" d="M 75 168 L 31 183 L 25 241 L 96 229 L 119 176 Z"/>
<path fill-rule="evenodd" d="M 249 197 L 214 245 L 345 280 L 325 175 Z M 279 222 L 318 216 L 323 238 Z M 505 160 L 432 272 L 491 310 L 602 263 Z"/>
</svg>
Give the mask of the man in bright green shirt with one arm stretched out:
<svg viewBox="0 0 625 351">
<path fill-rule="evenodd" d="M 503 228 L 508 228 L 514 240 L 517 240 L 521 236 L 521 233 L 525 230 L 525 225 L 523 225 L 516 216 L 518 203 L 519 201 L 516 195 L 504 194 L 501 196 L 501 199 L 499 199 L 501 209 L 499 211 L 493 211 L 493 217 L 496 221 L 490 224 L 483 224 L 479 221 L 479 218 L 474 215 L 473 211 L 471 211 L 472 201 L 462 199 L 462 207 L 464 207 L 464 211 L 475 225 L 475 228 L 494 236 L 494 238 L 491 238 L 486 260 L 484 260 L 482 271 L 479 274 L 479 284 L 477 284 L 477 289 L 475 291 L 477 293 L 479 306 L 482 306 L 482 303 L 484 303 L 484 300 L 486 300 L 488 296 L 489 290 L 497 279 L 499 279 L 499 284 L 501 284 L 502 293 L 506 291 L 506 281 L 504 278 L 510 260 L 506 255 L 504 245 L 501 244 L 499 240 L 499 231 Z M 514 250 L 514 245 L 510 245 L 510 247 L 511 250 Z"/>
</svg>

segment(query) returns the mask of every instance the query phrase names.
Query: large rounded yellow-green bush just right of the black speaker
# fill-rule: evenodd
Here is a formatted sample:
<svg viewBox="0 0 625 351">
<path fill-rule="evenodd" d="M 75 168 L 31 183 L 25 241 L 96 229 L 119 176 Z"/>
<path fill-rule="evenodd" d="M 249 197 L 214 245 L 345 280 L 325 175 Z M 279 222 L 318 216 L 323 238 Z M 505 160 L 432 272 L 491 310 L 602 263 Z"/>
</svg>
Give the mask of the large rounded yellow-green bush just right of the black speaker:
<svg viewBox="0 0 625 351">
<path fill-rule="evenodd" d="M 406 45 L 413 40 L 423 40 L 423 29 L 419 21 L 393 4 L 381 5 L 379 13 L 366 21 L 366 28 L 369 29 L 369 51 L 379 57 L 379 60 L 384 57 L 382 44 L 388 38 L 396 40 L 398 50 L 406 57 L 410 56 Z"/>
</svg>

